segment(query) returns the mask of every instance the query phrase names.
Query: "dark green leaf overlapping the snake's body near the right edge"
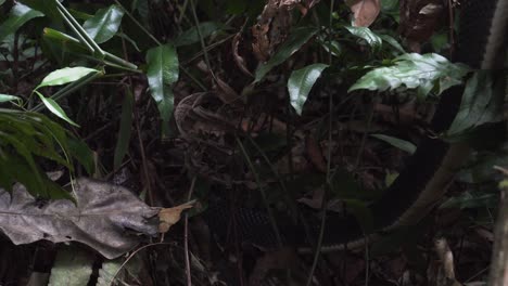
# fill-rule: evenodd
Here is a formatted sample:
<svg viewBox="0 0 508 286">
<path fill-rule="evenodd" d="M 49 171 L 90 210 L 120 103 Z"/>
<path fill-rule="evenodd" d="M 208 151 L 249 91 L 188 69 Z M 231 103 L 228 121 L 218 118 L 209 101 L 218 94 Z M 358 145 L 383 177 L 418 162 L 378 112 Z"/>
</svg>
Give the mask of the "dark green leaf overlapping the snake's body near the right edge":
<svg viewBox="0 0 508 286">
<path fill-rule="evenodd" d="M 459 112 L 447 135 L 457 135 L 483 123 L 503 120 L 505 81 L 505 75 L 496 77 L 491 70 L 474 73 L 466 84 Z"/>
</svg>

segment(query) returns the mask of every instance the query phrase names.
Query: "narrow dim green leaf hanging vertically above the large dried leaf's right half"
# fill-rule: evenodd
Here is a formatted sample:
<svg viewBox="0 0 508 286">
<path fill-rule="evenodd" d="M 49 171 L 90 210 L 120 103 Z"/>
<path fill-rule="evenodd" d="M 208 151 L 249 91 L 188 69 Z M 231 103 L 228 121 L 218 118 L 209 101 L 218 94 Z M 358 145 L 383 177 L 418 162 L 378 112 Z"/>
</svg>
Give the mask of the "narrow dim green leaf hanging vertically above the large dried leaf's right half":
<svg viewBox="0 0 508 286">
<path fill-rule="evenodd" d="M 117 170 L 122 165 L 125 154 L 129 148 L 130 133 L 132 130 L 132 109 L 134 109 L 134 95 L 128 90 L 125 93 L 124 102 L 122 103 L 120 128 L 118 131 L 118 139 L 116 140 L 114 169 Z"/>
</svg>

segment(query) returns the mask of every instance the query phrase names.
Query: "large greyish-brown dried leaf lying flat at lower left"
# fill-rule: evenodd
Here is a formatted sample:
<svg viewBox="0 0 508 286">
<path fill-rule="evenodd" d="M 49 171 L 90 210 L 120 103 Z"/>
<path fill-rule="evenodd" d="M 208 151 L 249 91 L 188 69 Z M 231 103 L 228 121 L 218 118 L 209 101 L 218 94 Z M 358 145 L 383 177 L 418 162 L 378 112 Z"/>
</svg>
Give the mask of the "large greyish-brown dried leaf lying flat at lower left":
<svg viewBox="0 0 508 286">
<path fill-rule="evenodd" d="M 157 222 L 151 219 L 158 209 L 125 187 L 81 178 L 75 182 L 75 195 L 77 205 L 64 199 L 41 204 L 22 185 L 15 185 L 12 195 L 0 190 L 0 231 L 16 245 L 79 242 L 107 259 L 141 242 L 134 232 L 157 234 Z"/>
</svg>

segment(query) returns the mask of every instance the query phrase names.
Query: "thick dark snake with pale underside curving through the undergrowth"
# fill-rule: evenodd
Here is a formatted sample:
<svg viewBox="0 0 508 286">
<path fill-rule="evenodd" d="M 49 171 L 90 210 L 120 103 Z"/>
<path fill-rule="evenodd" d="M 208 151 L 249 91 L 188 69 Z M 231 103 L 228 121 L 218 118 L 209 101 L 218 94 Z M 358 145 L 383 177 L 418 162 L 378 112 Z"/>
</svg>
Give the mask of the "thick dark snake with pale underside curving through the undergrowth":
<svg viewBox="0 0 508 286">
<path fill-rule="evenodd" d="M 465 63 L 473 69 L 503 69 L 508 38 L 508 0 L 463 0 L 460 4 L 459 37 L 453 62 Z M 443 92 L 430 122 L 434 134 L 450 127 L 459 110 L 462 92 L 463 87 L 459 86 Z M 395 181 L 368 206 L 374 219 L 373 231 L 366 233 L 351 213 L 328 211 L 319 250 L 354 249 L 397 227 L 421 221 L 441 202 L 470 152 L 467 143 L 449 143 L 439 136 L 423 138 Z M 229 208 L 225 204 L 211 204 L 207 217 L 211 229 L 224 238 L 228 225 L 225 219 L 231 218 Z M 277 245 L 266 211 L 238 207 L 234 218 L 236 232 L 242 239 L 265 247 Z M 308 227 L 307 232 L 317 237 L 319 223 Z M 313 251 L 302 231 L 287 229 L 281 229 L 285 239 L 295 244 L 301 252 Z"/>
</svg>

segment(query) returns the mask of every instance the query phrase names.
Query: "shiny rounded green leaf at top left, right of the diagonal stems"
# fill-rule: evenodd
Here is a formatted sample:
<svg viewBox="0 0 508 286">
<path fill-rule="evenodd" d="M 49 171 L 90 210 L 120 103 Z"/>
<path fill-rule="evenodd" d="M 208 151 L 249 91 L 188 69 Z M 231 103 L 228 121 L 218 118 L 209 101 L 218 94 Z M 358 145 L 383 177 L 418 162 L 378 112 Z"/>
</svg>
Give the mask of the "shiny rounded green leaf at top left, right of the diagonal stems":
<svg viewBox="0 0 508 286">
<path fill-rule="evenodd" d="M 103 43 L 115 36 L 122 24 L 124 10 L 117 5 L 111 5 L 97 11 L 93 17 L 82 24 L 82 28 L 97 43 Z"/>
</svg>

